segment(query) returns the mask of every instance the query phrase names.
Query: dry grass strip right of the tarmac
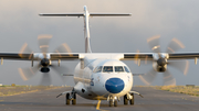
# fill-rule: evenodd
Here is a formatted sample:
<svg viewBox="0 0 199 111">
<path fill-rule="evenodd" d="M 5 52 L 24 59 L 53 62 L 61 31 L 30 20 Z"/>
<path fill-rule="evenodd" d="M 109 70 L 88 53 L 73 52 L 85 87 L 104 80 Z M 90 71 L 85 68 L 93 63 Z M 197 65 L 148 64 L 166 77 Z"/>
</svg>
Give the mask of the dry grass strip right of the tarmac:
<svg viewBox="0 0 199 111">
<path fill-rule="evenodd" d="M 190 96 L 199 97 L 199 87 L 186 87 L 186 86 L 156 86 L 155 89 L 171 91 L 171 92 L 179 92 Z"/>
</svg>

